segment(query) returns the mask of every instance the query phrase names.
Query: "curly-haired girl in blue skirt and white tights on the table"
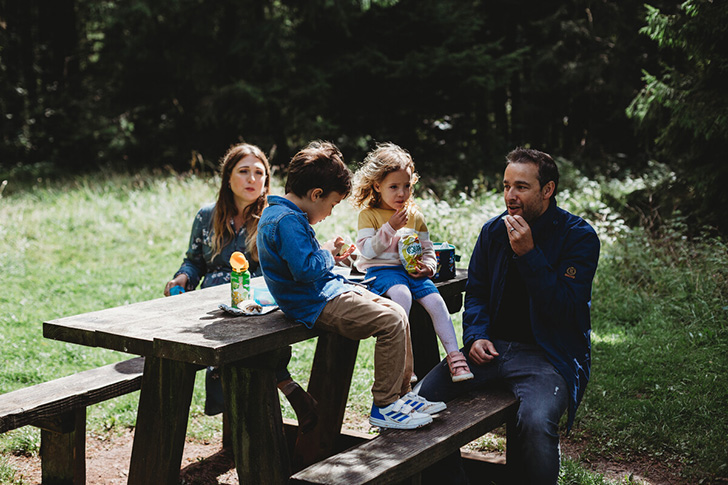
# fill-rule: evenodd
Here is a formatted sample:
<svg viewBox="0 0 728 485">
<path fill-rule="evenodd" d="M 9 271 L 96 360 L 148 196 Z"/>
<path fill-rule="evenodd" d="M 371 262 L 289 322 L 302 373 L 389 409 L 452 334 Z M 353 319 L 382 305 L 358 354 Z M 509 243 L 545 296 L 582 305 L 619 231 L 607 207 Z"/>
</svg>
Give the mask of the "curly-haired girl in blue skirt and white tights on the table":
<svg viewBox="0 0 728 485">
<path fill-rule="evenodd" d="M 399 303 L 409 314 L 412 300 L 419 302 L 432 318 L 435 333 L 447 352 L 453 382 L 472 379 L 465 356 L 458 350 L 455 329 L 445 301 L 429 277 L 435 274 L 437 260 L 422 213 L 414 206 L 412 186 L 417 182 L 412 157 L 392 143 L 377 145 L 354 175 L 353 203 L 364 208 L 359 213 L 356 261 L 374 293 Z M 407 272 L 399 259 L 399 240 L 416 234 L 422 258 L 413 272 Z M 416 379 L 413 377 L 413 379 Z"/>
</svg>

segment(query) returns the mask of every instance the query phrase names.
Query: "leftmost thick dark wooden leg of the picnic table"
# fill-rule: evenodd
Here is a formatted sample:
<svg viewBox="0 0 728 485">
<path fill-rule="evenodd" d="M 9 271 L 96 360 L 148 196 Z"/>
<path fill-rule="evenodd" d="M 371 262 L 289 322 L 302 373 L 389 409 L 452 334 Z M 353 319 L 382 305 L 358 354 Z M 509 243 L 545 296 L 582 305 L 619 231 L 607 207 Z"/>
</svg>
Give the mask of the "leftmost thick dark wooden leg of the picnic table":
<svg viewBox="0 0 728 485">
<path fill-rule="evenodd" d="M 147 356 L 129 482 L 176 485 L 199 366 Z"/>
</svg>

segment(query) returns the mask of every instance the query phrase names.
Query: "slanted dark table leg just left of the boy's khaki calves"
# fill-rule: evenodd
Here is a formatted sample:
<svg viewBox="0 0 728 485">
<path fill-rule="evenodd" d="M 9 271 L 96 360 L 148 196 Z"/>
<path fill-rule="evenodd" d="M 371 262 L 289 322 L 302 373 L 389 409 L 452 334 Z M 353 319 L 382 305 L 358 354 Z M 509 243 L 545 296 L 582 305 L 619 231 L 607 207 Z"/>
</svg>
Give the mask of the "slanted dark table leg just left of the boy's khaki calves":
<svg viewBox="0 0 728 485">
<path fill-rule="evenodd" d="M 308 392 L 318 401 L 319 419 L 313 430 L 298 433 L 293 452 L 296 471 L 336 452 L 358 349 L 359 341 L 337 334 L 318 338 Z"/>
</svg>

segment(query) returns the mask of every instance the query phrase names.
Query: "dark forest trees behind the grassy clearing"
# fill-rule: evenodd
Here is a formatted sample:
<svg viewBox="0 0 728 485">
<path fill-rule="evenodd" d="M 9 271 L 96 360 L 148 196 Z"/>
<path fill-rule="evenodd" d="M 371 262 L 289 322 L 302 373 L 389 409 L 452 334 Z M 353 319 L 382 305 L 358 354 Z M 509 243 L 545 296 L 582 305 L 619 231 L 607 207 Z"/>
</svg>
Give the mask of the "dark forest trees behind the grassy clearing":
<svg viewBox="0 0 728 485">
<path fill-rule="evenodd" d="M 326 139 L 468 193 L 528 145 L 605 180 L 661 163 L 618 203 L 725 232 L 728 6 L 650 3 L 0 0 L 0 183 Z"/>
</svg>

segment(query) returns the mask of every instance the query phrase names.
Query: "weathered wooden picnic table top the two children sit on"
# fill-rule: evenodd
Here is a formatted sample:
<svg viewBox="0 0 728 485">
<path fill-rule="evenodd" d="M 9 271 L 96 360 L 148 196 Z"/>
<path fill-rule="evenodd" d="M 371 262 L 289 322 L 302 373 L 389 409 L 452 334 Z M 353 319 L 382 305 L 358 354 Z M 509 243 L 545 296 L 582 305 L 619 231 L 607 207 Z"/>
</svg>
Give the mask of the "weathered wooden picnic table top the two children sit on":
<svg viewBox="0 0 728 485">
<path fill-rule="evenodd" d="M 437 283 L 443 297 L 459 295 L 465 272 Z M 255 278 L 251 284 L 260 284 Z M 258 316 L 231 316 L 229 285 L 167 298 L 58 318 L 43 323 L 46 338 L 153 355 L 192 364 L 218 366 L 252 357 L 318 335 L 286 318 L 280 310 Z"/>
</svg>

